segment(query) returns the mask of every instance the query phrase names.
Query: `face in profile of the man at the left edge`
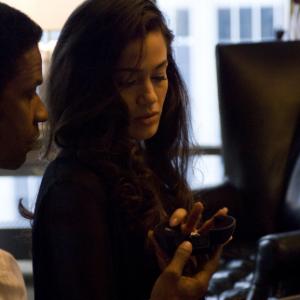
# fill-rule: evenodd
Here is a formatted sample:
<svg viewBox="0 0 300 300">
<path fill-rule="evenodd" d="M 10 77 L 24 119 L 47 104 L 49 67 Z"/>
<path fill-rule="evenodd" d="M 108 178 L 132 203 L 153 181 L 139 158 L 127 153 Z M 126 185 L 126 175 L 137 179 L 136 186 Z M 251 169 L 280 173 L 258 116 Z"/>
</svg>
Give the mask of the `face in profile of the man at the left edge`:
<svg viewBox="0 0 300 300">
<path fill-rule="evenodd" d="M 42 83 L 37 46 L 17 61 L 15 77 L 0 94 L 0 168 L 17 169 L 39 136 L 38 123 L 48 114 L 36 88 Z"/>
</svg>

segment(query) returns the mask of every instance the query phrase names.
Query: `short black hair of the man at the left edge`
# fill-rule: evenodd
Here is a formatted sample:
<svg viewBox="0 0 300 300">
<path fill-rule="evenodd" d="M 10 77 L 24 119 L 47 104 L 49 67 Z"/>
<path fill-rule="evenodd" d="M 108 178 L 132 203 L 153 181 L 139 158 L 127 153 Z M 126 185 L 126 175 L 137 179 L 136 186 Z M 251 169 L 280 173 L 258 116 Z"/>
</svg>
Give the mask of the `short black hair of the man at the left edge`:
<svg viewBox="0 0 300 300">
<path fill-rule="evenodd" d="M 16 72 L 18 59 L 40 41 L 41 27 L 21 11 L 0 2 L 0 94 Z"/>
</svg>

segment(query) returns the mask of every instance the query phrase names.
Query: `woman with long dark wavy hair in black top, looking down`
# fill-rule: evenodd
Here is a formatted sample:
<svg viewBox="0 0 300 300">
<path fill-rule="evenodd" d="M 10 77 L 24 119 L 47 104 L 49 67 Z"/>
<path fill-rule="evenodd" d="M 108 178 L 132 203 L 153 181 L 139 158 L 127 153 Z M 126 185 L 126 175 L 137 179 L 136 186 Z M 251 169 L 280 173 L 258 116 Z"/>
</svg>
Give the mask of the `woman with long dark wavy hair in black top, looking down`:
<svg viewBox="0 0 300 300">
<path fill-rule="evenodd" d="M 171 218 L 177 225 L 192 207 L 188 97 L 172 39 L 150 0 L 86 1 L 64 25 L 46 95 L 48 153 L 55 142 L 59 154 L 35 211 L 36 299 L 203 296 L 219 251 L 200 284 L 188 279 L 195 290 L 174 295 L 177 277 L 159 277 L 147 238 L 174 210 L 181 208 Z M 190 220 L 201 211 L 196 205 Z M 195 221 L 188 223 L 193 230 Z M 179 247 L 167 274 L 180 273 L 176 257 L 184 253 L 185 262 L 190 251 L 189 243 Z"/>
</svg>

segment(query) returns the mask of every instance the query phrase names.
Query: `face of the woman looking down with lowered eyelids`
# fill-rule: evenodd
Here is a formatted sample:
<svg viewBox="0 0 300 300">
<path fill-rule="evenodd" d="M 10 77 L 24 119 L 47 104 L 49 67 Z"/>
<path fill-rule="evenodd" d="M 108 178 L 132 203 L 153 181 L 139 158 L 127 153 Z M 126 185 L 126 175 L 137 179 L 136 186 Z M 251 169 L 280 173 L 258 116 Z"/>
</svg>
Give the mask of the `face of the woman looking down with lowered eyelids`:
<svg viewBox="0 0 300 300">
<path fill-rule="evenodd" d="M 142 49 L 142 53 L 141 53 Z M 129 135 L 146 140 L 157 132 L 168 90 L 167 46 L 160 31 L 130 42 L 117 65 L 116 82 L 129 111 Z"/>
</svg>

